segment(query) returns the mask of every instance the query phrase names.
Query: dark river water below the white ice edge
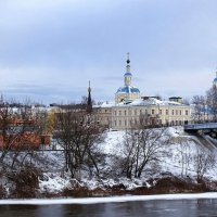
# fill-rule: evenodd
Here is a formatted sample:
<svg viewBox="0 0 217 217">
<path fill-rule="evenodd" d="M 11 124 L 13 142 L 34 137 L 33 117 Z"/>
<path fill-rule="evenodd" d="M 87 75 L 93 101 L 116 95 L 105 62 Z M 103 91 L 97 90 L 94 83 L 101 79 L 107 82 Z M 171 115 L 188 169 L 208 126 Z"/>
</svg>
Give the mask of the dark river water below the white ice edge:
<svg viewBox="0 0 217 217">
<path fill-rule="evenodd" d="M 217 200 L 135 201 L 79 205 L 0 205 L 0 217 L 207 217 Z"/>
</svg>

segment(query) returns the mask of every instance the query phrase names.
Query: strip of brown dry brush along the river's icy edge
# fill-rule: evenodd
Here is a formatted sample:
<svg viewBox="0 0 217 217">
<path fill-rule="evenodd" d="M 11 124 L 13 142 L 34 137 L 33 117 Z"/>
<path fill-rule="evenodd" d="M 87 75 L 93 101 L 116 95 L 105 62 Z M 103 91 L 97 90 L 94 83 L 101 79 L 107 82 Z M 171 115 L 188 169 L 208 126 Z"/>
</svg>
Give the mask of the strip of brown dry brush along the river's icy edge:
<svg viewBox="0 0 217 217">
<path fill-rule="evenodd" d="M 177 194 L 177 193 L 204 193 L 217 192 L 217 181 L 204 179 L 197 183 L 194 179 L 180 178 L 176 176 L 166 176 L 143 180 L 143 186 L 138 183 L 138 187 L 129 189 L 129 182 L 117 182 L 113 184 L 104 184 L 94 189 L 88 189 L 82 183 L 72 180 L 62 191 L 49 192 L 41 191 L 35 187 L 20 187 L 15 193 L 7 195 L 5 190 L 0 192 L 1 199 L 60 199 L 60 197 L 104 197 L 104 196 L 123 196 L 123 195 L 161 195 L 161 194 Z M 131 183 L 132 184 L 132 183 Z M 140 186 L 139 186 L 140 184 Z M 216 193 L 217 194 L 217 193 Z"/>
</svg>

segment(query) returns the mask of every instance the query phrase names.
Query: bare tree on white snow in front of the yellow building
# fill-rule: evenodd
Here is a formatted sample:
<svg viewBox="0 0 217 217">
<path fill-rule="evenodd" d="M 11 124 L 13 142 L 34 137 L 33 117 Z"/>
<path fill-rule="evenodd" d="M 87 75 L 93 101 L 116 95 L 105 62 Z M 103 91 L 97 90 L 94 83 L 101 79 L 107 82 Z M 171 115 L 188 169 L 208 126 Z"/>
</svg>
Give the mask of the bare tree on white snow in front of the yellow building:
<svg viewBox="0 0 217 217">
<path fill-rule="evenodd" d="M 127 178 L 140 178 L 150 163 L 159 159 L 164 152 L 163 146 L 168 140 L 166 128 L 148 128 L 146 120 L 140 119 L 136 130 L 126 131 L 124 156 L 120 159 L 123 174 Z"/>
</svg>

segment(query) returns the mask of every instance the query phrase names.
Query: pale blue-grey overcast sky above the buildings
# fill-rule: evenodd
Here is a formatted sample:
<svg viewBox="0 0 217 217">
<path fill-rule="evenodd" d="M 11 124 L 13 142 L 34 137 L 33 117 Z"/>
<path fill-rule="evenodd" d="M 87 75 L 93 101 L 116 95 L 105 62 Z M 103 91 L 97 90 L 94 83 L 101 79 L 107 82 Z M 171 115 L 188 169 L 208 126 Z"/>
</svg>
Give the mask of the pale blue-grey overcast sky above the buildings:
<svg viewBox="0 0 217 217">
<path fill-rule="evenodd" d="M 124 85 L 127 52 L 143 95 L 191 98 L 217 67 L 216 0 L 0 0 L 0 92 L 43 103 L 97 101 Z"/>
</svg>

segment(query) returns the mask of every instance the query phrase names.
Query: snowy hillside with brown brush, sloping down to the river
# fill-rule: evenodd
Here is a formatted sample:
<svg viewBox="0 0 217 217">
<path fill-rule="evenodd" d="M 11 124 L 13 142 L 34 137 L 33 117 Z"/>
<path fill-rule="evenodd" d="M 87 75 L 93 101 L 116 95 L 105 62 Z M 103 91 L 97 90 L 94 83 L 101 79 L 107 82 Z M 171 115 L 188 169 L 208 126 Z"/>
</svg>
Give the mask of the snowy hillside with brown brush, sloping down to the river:
<svg viewBox="0 0 217 217">
<path fill-rule="evenodd" d="M 23 197 L 31 197 L 31 195 L 33 197 L 106 195 L 111 192 L 112 194 L 126 192 L 151 194 L 215 191 L 217 189 L 216 150 L 214 145 L 210 146 L 210 143 L 207 148 L 204 148 L 206 138 L 201 139 L 200 137 L 186 135 L 182 127 L 167 128 L 166 135 L 169 136 L 169 142 L 159 146 L 157 159 L 150 162 L 144 167 L 141 177 L 129 179 L 120 173 L 118 167 L 118 159 L 125 153 L 125 131 L 107 131 L 104 141 L 98 144 L 99 151 L 104 157 L 103 163 L 99 166 L 100 177 L 90 176 L 88 169 L 84 167 L 80 181 L 71 179 L 69 173 L 64 170 L 64 155 L 62 152 L 40 151 L 34 155 L 33 159 L 35 167 L 38 168 L 35 174 L 34 170 L 30 170 L 30 173 L 29 170 L 28 173 L 25 171 L 26 174 L 23 171 L 23 176 L 17 171 L 5 173 L 4 170 L 4 173 L 1 173 L 2 197 L 21 197 L 22 192 L 29 189 L 34 191 L 34 194 L 24 194 Z M 162 137 L 159 144 L 163 140 Z M 197 183 L 199 171 L 196 170 L 199 167 L 195 165 L 199 148 L 208 153 L 212 150 L 215 158 L 215 161 L 213 158 L 212 166 L 206 165 L 206 168 L 204 168 L 203 182 L 201 183 Z M 36 181 L 30 183 L 34 177 L 33 174 L 36 175 Z M 27 179 L 28 176 L 29 179 Z M 201 184 L 205 186 L 202 188 Z M 23 189 L 24 186 L 27 186 L 27 188 Z M 21 189 L 17 189 L 18 187 Z"/>
</svg>

